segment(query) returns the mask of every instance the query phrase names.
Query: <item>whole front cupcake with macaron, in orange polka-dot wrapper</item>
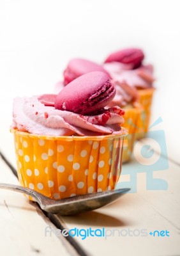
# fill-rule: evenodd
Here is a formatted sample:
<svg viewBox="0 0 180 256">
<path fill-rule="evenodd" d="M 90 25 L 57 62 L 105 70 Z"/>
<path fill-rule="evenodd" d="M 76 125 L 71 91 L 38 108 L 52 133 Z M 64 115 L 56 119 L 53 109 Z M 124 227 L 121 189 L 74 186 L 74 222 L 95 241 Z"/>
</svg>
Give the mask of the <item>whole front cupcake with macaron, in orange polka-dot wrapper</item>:
<svg viewBox="0 0 180 256">
<path fill-rule="evenodd" d="M 91 72 L 58 95 L 15 98 L 20 184 L 53 199 L 114 189 L 127 134 L 123 109 L 105 109 L 115 93 L 107 74 Z"/>
</svg>

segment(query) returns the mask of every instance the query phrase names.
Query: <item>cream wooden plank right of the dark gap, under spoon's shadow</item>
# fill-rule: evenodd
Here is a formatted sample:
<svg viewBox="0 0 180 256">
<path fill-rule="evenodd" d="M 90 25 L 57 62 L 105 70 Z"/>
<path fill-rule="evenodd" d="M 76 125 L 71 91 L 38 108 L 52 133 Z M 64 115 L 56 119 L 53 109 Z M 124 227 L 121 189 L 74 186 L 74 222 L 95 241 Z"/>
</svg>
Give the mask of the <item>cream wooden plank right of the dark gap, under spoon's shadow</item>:
<svg viewBox="0 0 180 256">
<path fill-rule="evenodd" d="M 131 172 L 133 166 L 134 163 L 128 164 Z M 58 216 L 59 221 L 63 220 L 64 228 L 68 230 L 105 228 L 109 235 L 106 238 L 74 237 L 92 255 L 179 255 L 179 171 L 179 166 L 169 161 L 168 170 L 153 172 L 154 179 L 167 182 L 165 190 L 147 190 L 147 173 L 139 172 L 136 193 L 128 193 L 114 204 L 93 212 Z M 130 175 L 124 175 L 126 179 L 123 181 L 128 181 Z M 166 236 L 157 236 L 158 232 L 154 233 L 155 236 L 149 234 L 155 230 L 167 230 L 167 233 L 162 233 Z"/>
</svg>

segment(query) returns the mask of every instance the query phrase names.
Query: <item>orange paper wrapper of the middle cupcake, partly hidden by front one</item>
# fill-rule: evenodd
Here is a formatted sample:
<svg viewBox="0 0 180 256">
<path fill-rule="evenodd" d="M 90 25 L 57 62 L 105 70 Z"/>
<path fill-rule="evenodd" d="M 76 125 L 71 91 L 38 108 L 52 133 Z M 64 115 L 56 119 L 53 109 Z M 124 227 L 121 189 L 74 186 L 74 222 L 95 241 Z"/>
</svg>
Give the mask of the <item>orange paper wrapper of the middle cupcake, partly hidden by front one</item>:
<svg viewBox="0 0 180 256">
<path fill-rule="evenodd" d="M 125 109 L 123 127 L 128 131 L 128 135 L 124 138 L 123 146 L 123 163 L 130 161 L 133 145 L 135 143 L 135 134 L 138 131 L 137 123 L 139 122 L 142 108 Z"/>
</svg>

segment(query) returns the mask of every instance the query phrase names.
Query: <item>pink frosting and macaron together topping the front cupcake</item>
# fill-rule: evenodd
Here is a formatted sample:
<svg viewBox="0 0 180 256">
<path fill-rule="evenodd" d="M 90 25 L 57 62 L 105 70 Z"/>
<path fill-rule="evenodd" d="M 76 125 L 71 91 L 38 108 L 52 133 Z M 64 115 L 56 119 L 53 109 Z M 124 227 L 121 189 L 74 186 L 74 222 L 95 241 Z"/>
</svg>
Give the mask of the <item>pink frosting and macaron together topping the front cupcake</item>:
<svg viewBox="0 0 180 256">
<path fill-rule="evenodd" d="M 75 79 L 58 95 L 17 97 L 12 127 L 50 136 L 124 134 L 123 109 L 104 108 L 115 92 L 107 74 L 91 72 Z"/>
</svg>

